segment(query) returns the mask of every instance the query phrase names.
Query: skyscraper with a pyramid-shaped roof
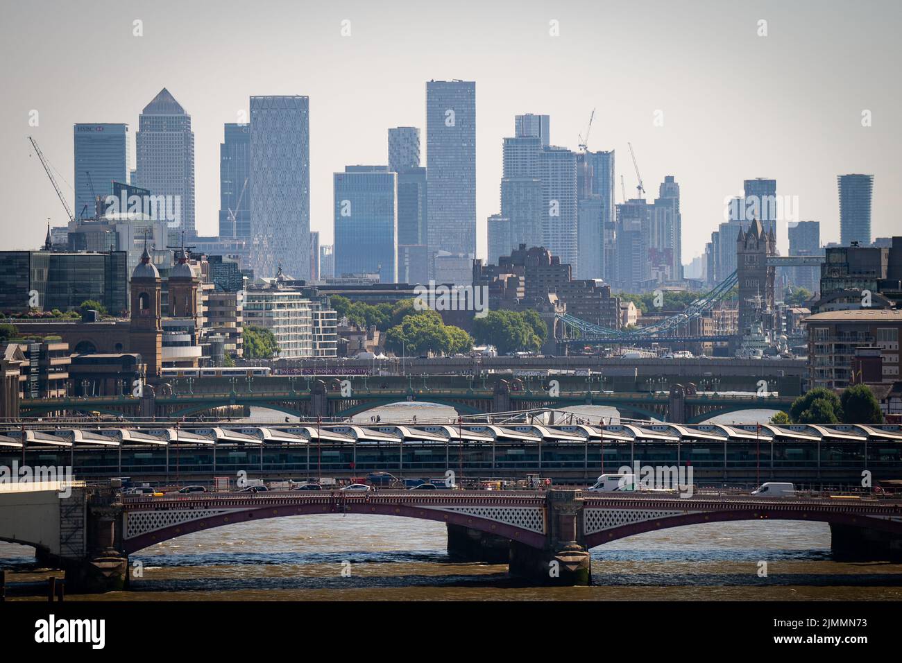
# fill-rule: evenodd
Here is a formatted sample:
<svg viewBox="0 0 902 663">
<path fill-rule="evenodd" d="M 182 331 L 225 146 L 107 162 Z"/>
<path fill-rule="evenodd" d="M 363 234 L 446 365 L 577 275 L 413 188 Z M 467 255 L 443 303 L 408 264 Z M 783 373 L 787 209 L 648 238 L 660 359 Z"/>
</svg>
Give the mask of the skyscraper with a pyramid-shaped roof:
<svg viewBox="0 0 902 663">
<path fill-rule="evenodd" d="M 138 116 L 134 143 L 136 168 L 131 183 L 150 189 L 153 196 L 173 197 L 179 217 L 167 219 L 170 228 L 196 235 L 191 116 L 165 87 Z"/>
</svg>

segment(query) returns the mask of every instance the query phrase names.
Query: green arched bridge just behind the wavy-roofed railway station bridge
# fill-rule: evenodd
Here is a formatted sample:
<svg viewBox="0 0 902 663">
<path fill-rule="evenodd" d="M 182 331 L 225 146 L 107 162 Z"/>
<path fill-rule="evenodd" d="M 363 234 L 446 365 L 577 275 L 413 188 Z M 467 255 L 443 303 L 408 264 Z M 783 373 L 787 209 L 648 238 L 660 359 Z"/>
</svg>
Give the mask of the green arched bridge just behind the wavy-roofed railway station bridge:
<svg viewBox="0 0 902 663">
<path fill-rule="evenodd" d="M 615 392 L 598 378 L 550 376 L 540 380 L 441 376 L 427 382 L 411 377 L 385 376 L 316 380 L 257 381 L 239 385 L 203 383 L 179 393 L 158 386 L 133 395 L 25 399 L 24 417 L 62 410 L 103 412 L 127 418 L 181 418 L 224 406 L 260 406 L 293 417 L 344 419 L 399 401 L 448 405 L 461 414 L 481 414 L 602 405 L 634 419 L 697 423 L 738 410 L 788 410 L 797 393 L 762 390 L 762 395 L 698 391 L 695 385 L 649 382 L 649 391 Z M 220 391 L 212 391 L 218 388 Z M 211 390 L 211 391 L 207 391 Z M 753 387 L 750 387 L 752 393 Z"/>
</svg>

